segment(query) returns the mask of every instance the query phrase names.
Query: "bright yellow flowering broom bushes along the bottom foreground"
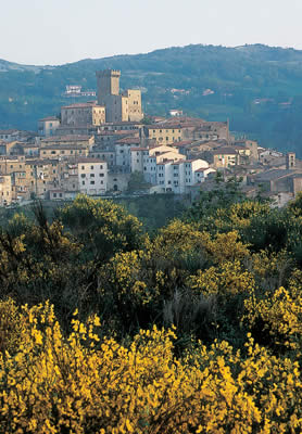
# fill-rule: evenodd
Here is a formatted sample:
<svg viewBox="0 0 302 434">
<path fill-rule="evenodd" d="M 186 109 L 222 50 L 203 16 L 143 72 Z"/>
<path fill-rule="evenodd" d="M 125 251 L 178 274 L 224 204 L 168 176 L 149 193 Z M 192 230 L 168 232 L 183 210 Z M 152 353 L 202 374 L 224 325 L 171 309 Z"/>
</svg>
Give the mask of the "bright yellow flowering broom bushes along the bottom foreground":
<svg viewBox="0 0 302 434">
<path fill-rule="evenodd" d="M 99 339 L 97 316 L 62 334 L 49 304 L 23 306 L 18 344 L 0 353 L 1 433 L 295 433 L 297 360 L 248 336 L 244 350 L 198 344 L 174 356 L 173 330 L 141 330 L 128 346 Z M 9 339 L 9 336 L 8 336 Z"/>
</svg>

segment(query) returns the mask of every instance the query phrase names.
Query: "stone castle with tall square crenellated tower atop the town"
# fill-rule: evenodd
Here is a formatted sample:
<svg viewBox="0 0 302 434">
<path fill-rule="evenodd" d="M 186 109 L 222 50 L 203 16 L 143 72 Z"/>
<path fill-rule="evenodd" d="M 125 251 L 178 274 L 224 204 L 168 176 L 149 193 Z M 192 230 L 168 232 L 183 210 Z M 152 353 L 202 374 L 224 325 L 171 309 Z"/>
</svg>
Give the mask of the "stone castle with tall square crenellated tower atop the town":
<svg viewBox="0 0 302 434">
<path fill-rule="evenodd" d="M 98 80 L 98 104 L 105 106 L 106 123 L 140 122 L 140 90 L 127 89 L 119 93 L 121 71 L 105 69 L 96 73 Z"/>
</svg>

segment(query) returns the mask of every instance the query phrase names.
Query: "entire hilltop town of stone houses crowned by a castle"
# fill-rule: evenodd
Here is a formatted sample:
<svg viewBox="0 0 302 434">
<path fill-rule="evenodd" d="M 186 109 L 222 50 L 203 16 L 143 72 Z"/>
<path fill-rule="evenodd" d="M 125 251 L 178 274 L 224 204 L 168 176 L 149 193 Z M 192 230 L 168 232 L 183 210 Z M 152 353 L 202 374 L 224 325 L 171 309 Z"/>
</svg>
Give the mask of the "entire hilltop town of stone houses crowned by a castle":
<svg viewBox="0 0 302 434">
<path fill-rule="evenodd" d="M 184 116 L 144 116 L 141 91 L 119 89 L 119 71 L 96 73 L 97 101 L 61 107 L 38 131 L 0 130 L 0 204 L 33 199 L 73 200 L 211 190 L 217 173 L 237 177 L 247 196 L 282 206 L 302 190 L 302 162 L 293 152 L 236 138 L 229 123 Z M 93 93 L 91 94 L 93 95 Z"/>
</svg>

